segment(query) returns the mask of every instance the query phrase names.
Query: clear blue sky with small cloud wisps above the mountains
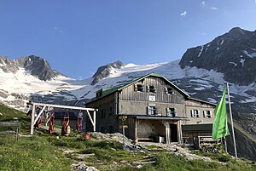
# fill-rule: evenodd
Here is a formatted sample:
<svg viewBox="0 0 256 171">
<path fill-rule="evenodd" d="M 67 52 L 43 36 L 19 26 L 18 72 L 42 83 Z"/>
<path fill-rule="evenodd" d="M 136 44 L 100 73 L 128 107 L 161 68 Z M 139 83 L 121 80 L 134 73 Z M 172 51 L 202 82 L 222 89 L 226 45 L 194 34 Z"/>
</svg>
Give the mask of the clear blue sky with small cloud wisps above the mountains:
<svg viewBox="0 0 256 171">
<path fill-rule="evenodd" d="M 255 0 L 0 0 L 0 55 L 38 55 L 56 71 L 91 77 L 115 60 L 180 59 L 235 26 L 256 30 Z"/>
</svg>

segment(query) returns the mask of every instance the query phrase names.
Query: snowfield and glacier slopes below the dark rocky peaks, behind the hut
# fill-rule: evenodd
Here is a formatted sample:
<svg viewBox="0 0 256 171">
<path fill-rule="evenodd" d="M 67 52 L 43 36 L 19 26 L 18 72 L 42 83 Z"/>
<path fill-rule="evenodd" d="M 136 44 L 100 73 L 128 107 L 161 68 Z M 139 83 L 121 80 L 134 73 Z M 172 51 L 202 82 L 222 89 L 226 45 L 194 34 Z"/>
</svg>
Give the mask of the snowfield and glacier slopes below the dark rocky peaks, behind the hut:
<svg viewBox="0 0 256 171">
<path fill-rule="evenodd" d="M 3 60 L 0 58 L 0 61 Z M 118 63 L 120 64 L 119 61 Z M 22 107 L 23 100 L 31 99 L 46 103 L 78 103 L 94 98 L 95 92 L 100 88 L 129 83 L 137 77 L 155 72 L 170 79 L 191 96 L 216 102 L 226 83 L 224 74 L 221 72 L 208 71 L 195 66 L 182 69 L 179 60 L 149 65 L 116 66 L 115 64 L 116 62 L 105 68 L 102 66 L 103 75 L 98 71 L 93 77 L 85 80 L 74 80 L 58 74 L 44 81 L 33 76 L 24 67 L 17 67 L 15 72 L 0 69 L 0 100 L 15 107 Z M 107 75 L 106 72 L 108 72 Z M 255 103 L 256 97 L 253 96 L 255 89 L 255 83 L 247 86 L 230 83 L 230 92 L 236 103 Z"/>
</svg>

